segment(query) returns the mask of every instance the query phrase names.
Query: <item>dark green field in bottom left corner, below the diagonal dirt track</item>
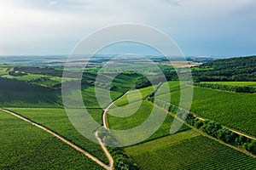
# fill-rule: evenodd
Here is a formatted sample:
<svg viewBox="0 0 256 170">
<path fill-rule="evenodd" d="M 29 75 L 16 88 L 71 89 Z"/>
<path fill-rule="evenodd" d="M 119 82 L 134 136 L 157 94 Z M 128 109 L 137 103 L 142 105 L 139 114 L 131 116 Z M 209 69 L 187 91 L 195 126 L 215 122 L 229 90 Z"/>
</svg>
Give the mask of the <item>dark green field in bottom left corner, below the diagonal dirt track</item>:
<svg viewBox="0 0 256 170">
<path fill-rule="evenodd" d="M 38 127 L 0 111 L 0 169 L 104 169 Z"/>
</svg>

